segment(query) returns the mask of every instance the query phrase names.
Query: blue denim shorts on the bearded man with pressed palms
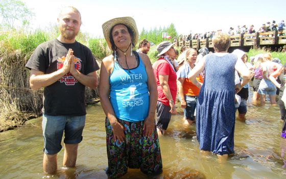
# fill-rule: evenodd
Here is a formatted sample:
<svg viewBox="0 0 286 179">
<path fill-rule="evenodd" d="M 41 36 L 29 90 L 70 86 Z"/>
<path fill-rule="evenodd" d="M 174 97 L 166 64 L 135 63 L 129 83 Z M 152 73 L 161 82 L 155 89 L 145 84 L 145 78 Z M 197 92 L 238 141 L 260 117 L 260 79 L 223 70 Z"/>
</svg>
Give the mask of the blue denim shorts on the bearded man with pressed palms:
<svg viewBox="0 0 286 179">
<path fill-rule="evenodd" d="M 61 148 L 64 132 L 65 144 L 78 144 L 82 141 L 82 131 L 85 125 L 84 116 L 49 116 L 43 114 L 42 128 L 44 152 L 56 154 Z"/>
</svg>

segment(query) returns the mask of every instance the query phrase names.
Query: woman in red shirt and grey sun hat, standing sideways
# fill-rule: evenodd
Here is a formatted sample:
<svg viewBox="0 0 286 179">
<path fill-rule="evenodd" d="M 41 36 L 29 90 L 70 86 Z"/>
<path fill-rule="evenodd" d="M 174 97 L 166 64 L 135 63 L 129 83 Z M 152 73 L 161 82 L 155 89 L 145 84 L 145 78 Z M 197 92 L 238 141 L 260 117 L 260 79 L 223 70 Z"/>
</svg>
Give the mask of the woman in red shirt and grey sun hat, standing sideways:
<svg viewBox="0 0 286 179">
<path fill-rule="evenodd" d="M 176 55 L 173 45 L 169 41 L 159 43 L 159 59 L 153 64 L 158 91 L 156 127 L 162 135 L 169 125 L 171 114 L 176 113 L 177 75 L 171 60 Z"/>
</svg>

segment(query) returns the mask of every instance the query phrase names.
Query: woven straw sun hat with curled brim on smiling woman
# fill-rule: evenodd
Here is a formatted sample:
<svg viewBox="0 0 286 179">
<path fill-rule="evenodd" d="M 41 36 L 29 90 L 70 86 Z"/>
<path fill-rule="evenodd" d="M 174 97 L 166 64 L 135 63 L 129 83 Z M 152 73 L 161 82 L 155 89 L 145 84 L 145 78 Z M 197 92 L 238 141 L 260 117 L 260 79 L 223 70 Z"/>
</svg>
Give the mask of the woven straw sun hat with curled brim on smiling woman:
<svg viewBox="0 0 286 179">
<path fill-rule="evenodd" d="M 138 38 L 139 38 L 139 33 L 138 33 L 138 30 L 136 27 L 135 20 L 132 17 L 117 17 L 117 18 L 113 18 L 111 20 L 106 21 L 102 25 L 103 35 L 104 35 L 105 40 L 107 41 L 109 49 L 112 50 L 111 49 L 111 42 L 109 40 L 110 39 L 110 31 L 117 24 L 123 24 L 123 25 L 125 25 L 131 29 L 131 31 L 133 32 L 133 35 L 134 35 L 132 42 L 135 46 L 136 43 L 138 42 Z"/>
</svg>

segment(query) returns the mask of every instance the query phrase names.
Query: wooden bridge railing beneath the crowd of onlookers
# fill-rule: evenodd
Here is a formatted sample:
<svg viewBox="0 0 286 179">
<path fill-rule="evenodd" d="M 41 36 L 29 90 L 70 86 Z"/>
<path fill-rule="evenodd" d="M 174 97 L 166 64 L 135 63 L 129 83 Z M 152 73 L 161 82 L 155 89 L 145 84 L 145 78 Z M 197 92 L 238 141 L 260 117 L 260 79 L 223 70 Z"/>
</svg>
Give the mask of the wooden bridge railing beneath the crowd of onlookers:
<svg viewBox="0 0 286 179">
<path fill-rule="evenodd" d="M 281 46 L 282 44 L 286 44 L 286 30 L 230 36 L 230 47 L 251 48 L 251 46 Z M 178 47 L 182 47 L 184 45 L 197 50 L 203 47 L 213 48 L 211 38 L 177 42 Z"/>
</svg>

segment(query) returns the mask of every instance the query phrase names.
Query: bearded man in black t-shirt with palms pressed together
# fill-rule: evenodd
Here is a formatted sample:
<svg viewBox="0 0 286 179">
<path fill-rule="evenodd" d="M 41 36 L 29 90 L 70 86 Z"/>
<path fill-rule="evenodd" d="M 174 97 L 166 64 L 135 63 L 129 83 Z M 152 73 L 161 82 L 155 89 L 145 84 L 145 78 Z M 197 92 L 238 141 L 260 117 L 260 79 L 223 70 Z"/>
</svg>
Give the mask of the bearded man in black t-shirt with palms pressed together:
<svg viewBox="0 0 286 179">
<path fill-rule="evenodd" d="M 57 153 L 64 134 L 63 165 L 75 167 L 85 125 L 85 86 L 95 89 L 99 66 L 91 51 L 75 40 L 81 14 L 65 7 L 58 16 L 60 35 L 40 44 L 26 67 L 31 70 L 30 86 L 43 93 L 43 170 L 57 171 Z"/>
</svg>

